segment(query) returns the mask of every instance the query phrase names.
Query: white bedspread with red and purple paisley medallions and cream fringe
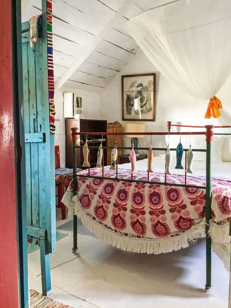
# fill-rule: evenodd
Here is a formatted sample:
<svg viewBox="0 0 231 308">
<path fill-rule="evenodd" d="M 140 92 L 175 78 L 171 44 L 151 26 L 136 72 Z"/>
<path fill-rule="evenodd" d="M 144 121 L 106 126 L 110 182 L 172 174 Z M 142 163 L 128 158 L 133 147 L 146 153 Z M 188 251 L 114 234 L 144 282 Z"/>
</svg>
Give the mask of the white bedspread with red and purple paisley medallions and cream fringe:
<svg viewBox="0 0 231 308">
<path fill-rule="evenodd" d="M 131 179 L 130 172 L 118 170 L 118 178 Z M 88 175 L 88 170 L 78 174 Z M 205 236 L 205 190 L 171 186 L 184 184 L 184 176 L 168 175 L 169 185 L 164 186 L 103 180 L 101 168 L 90 169 L 90 175 L 99 178 L 78 177 L 78 193 L 73 203 L 72 183 L 63 202 L 73 207 L 90 231 L 112 245 L 130 251 L 160 253 L 186 247 L 189 240 Z M 104 176 L 115 177 L 116 171 L 105 167 Z M 138 171 L 133 179 L 147 181 L 147 172 Z M 164 174 L 150 173 L 149 181 L 164 182 Z M 187 184 L 205 186 L 205 177 L 190 176 Z M 229 240 L 230 217 L 231 181 L 212 178 L 213 240 Z"/>
</svg>

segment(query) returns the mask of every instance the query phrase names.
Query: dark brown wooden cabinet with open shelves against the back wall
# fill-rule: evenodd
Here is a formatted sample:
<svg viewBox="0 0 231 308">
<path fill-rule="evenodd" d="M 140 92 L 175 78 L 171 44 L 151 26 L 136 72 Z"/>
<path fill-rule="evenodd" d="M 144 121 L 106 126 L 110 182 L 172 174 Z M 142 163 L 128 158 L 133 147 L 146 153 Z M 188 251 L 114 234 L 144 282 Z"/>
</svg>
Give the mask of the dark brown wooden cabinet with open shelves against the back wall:
<svg viewBox="0 0 231 308">
<path fill-rule="evenodd" d="M 73 168 L 73 143 L 72 143 L 72 136 L 71 136 L 71 128 L 77 127 L 77 132 L 91 132 L 91 136 L 93 139 L 101 138 L 101 136 L 94 136 L 94 132 L 107 132 L 107 121 L 106 120 L 87 120 L 87 119 L 73 119 L 73 118 L 65 118 L 65 154 L 66 154 L 66 167 Z M 77 145 L 83 146 L 85 141 L 81 142 L 81 136 L 77 136 Z M 86 136 L 85 136 L 86 137 Z M 107 145 L 107 136 L 103 136 L 106 140 L 103 141 L 103 146 Z M 96 167 L 97 163 L 97 154 L 98 154 L 98 147 L 101 141 L 89 141 L 88 146 L 97 146 L 97 149 L 90 149 L 89 154 L 89 162 L 90 166 Z M 77 148 L 77 168 L 82 168 L 83 165 L 83 148 Z M 104 165 L 107 165 L 107 153 L 104 150 Z"/>
</svg>

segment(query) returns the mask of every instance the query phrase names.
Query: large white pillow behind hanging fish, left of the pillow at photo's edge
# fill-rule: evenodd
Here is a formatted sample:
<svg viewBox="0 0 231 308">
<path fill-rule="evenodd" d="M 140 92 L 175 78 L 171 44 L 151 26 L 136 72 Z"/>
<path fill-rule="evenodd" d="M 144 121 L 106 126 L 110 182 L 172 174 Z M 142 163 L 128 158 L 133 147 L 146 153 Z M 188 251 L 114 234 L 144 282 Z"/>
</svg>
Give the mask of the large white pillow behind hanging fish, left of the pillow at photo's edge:
<svg viewBox="0 0 231 308">
<path fill-rule="evenodd" d="M 174 137 L 174 138 L 173 138 Z M 168 135 L 165 136 L 165 141 L 168 144 L 168 138 L 169 138 L 169 147 L 170 148 L 176 148 L 179 141 L 180 141 L 180 136 L 178 135 Z M 218 162 L 222 163 L 222 147 L 223 147 L 223 142 L 224 142 L 224 137 L 219 136 L 219 137 L 214 137 L 212 138 L 212 150 L 211 150 L 211 157 L 212 157 L 212 162 Z M 182 135 L 181 136 L 181 143 L 184 147 L 184 149 L 189 148 L 190 144 L 190 136 L 189 135 Z M 205 141 L 205 135 L 192 135 L 191 136 L 191 148 L 193 149 L 206 149 L 206 141 Z M 173 151 L 172 151 L 173 152 Z M 176 156 L 176 153 L 172 153 L 174 155 L 173 157 Z M 185 153 L 183 155 L 185 157 Z M 206 160 L 206 152 L 197 152 L 193 151 L 193 159 L 197 161 L 204 161 Z"/>
</svg>

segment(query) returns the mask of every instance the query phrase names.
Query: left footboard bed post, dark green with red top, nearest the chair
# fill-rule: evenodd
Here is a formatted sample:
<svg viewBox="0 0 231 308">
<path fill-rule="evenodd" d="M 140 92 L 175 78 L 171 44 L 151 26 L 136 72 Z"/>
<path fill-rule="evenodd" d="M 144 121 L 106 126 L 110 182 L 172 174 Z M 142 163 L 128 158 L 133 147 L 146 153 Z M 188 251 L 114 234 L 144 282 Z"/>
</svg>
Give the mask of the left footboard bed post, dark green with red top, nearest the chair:
<svg viewBox="0 0 231 308">
<path fill-rule="evenodd" d="M 73 196 L 77 193 L 77 176 L 76 176 L 76 168 L 77 168 L 77 162 L 76 162 L 76 140 L 77 140 L 77 127 L 72 127 L 72 141 L 73 141 Z M 73 248 L 72 251 L 76 252 L 78 249 L 77 247 L 77 216 L 73 215 Z"/>
</svg>

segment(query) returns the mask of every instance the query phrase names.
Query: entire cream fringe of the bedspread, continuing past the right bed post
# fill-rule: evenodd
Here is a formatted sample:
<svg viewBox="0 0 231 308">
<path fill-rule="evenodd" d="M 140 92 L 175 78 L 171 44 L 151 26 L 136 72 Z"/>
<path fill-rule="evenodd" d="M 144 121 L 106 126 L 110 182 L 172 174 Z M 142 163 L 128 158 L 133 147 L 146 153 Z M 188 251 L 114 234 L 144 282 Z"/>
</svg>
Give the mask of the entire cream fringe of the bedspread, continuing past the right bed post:
<svg viewBox="0 0 231 308">
<path fill-rule="evenodd" d="M 105 228 L 97 220 L 91 219 L 79 202 L 78 195 L 73 197 L 73 192 L 67 190 L 62 198 L 62 202 L 68 209 L 73 210 L 74 214 L 82 220 L 89 231 L 107 243 L 127 251 L 159 254 L 186 248 L 189 246 L 189 241 L 205 237 L 205 219 L 195 224 L 191 229 L 171 238 L 138 239 L 126 237 Z M 227 245 L 230 245 L 231 239 L 229 235 L 229 223 L 217 225 L 211 221 L 209 234 L 213 241 L 214 252 L 223 261 L 226 269 L 229 268 L 230 251 L 227 249 Z M 225 244 L 223 245 L 223 243 Z"/>
</svg>

